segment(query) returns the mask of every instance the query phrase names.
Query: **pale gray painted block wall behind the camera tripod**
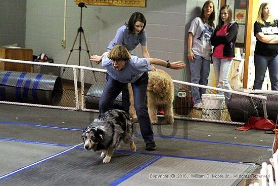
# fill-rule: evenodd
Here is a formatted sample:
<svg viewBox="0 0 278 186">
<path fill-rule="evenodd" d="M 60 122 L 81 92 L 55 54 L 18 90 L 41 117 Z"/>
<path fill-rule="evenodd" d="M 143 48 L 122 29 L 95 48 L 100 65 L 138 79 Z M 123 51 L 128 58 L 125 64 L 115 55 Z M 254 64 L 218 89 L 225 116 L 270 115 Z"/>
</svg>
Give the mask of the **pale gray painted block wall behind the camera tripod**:
<svg viewBox="0 0 278 186">
<path fill-rule="evenodd" d="M 151 57 L 170 61 L 183 60 L 189 24 L 194 17 L 199 15 L 198 10 L 205 1 L 147 0 L 146 2 L 147 5 L 144 8 L 111 6 L 83 8 L 82 27 L 90 55 L 106 51 L 117 28 L 127 22 L 133 12 L 139 11 L 147 19 L 146 31 Z M 66 6 L 66 48 L 64 49 L 61 47 L 64 0 L 27 0 L 26 48 L 33 49 L 34 54 L 47 53 L 55 63 L 61 64 L 67 61 L 80 24 L 80 8 L 73 0 L 68 0 Z M 78 46 L 79 38 L 74 49 Z M 85 49 L 83 40 L 81 47 Z M 134 55 L 142 56 L 141 47 L 135 49 Z M 78 64 L 78 51 L 72 52 L 68 64 Z M 90 66 L 85 51 L 81 51 L 80 65 Z M 179 79 L 179 71 L 165 70 L 173 79 Z"/>
</svg>

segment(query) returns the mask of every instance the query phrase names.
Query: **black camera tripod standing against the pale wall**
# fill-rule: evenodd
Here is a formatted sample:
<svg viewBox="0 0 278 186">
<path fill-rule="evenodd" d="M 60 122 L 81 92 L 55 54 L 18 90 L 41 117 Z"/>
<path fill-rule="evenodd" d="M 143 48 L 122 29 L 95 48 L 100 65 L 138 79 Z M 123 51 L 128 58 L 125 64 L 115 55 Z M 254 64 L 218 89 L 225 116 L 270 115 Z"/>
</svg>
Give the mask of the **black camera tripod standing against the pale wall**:
<svg viewBox="0 0 278 186">
<path fill-rule="evenodd" d="M 84 42 L 85 42 L 85 46 L 86 46 L 86 50 L 85 50 L 85 51 L 87 51 L 87 54 L 88 54 L 89 58 L 90 58 L 90 52 L 89 52 L 89 50 L 88 50 L 88 45 L 87 45 L 87 42 L 86 42 L 84 30 L 83 30 L 83 28 L 82 28 L 82 8 L 83 8 L 83 7 L 87 8 L 87 7 L 85 6 L 85 3 L 79 3 L 79 4 L 78 4 L 78 7 L 81 8 L 81 12 L 80 12 L 80 26 L 79 26 L 79 28 L 77 29 L 77 34 L 76 34 L 75 40 L 74 40 L 74 42 L 73 42 L 72 48 L 70 49 L 70 53 L 69 53 L 69 56 L 68 56 L 68 59 L 67 59 L 66 64 L 68 64 L 68 62 L 69 62 L 69 58 L 70 58 L 70 55 L 71 55 L 72 51 L 78 50 L 78 51 L 79 51 L 78 65 L 80 66 L 81 50 L 84 50 L 84 49 L 81 48 L 81 39 L 82 39 L 82 35 L 83 35 Z M 74 45 L 75 45 L 75 42 L 76 42 L 76 40 L 77 40 L 78 35 L 79 35 L 79 47 L 78 47 L 78 49 L 73 49 L 73 48 L 74 48 Z M 90 62 L 90 64 L 91 64 L 91 67 L 93 67 L 91 62 Z"/>
</svg>

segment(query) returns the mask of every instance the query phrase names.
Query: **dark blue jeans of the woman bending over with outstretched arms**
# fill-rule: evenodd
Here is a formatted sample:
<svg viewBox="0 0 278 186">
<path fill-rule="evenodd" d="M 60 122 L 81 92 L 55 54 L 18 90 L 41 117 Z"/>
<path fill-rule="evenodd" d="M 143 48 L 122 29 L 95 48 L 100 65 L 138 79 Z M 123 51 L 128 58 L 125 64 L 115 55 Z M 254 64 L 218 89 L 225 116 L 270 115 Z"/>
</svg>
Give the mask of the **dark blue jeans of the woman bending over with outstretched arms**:
<svg viewBox="0 0 278 186">
<path fill-rule="evenodd" d="M 140 79 L 132 83 L 132 90 L 134 96 L 134 107 L 140 124 L 141 134 L 145 143 L 154 141 L 154 133 L 151 126 L 150 117 L 148 114 L 148 107 L 146 105 L 146 93 L 148 86 L 148 72 L 145 72 Z M 120 94 L 126 83 L 121 83 L 108 77 L 104 91 L 99 101 L 100 115 L 103 116 L 106 111 L 111 109 L 116 97 Z"/>
</svg>

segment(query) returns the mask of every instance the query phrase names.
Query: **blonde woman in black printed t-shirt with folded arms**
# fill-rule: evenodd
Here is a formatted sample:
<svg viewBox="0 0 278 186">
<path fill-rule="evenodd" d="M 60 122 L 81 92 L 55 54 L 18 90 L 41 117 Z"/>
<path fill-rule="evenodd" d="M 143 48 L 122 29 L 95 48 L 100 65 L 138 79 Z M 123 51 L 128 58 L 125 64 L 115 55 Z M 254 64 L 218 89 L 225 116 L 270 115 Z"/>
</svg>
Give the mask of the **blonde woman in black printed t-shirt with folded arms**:
<svg viewBox="0 0 278 186">
<path fill-rule="evenodd" d="M 278 27 L 272 18 L 269 3 L 262 3 L 254 23 L 256 47 L 254 54 L 255 80 L 253 89 L 261 89 L 268 67 L 271 90 L 278 90 Z"/>
</svg>

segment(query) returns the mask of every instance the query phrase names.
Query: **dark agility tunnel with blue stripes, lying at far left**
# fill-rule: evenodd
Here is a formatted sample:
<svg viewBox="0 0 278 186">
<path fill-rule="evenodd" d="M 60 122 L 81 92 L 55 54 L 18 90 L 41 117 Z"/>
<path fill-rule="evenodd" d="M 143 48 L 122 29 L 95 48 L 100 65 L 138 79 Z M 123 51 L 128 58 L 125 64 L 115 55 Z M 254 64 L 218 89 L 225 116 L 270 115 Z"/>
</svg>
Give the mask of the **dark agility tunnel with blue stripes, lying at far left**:
<svg viewBox="0 0 278 186">
<path fill-rule="evenodd" d="M 0 71 L 0 100 L 58 105 L 63 95 L 62 79 L 42 73 Z"/>
</svg>

